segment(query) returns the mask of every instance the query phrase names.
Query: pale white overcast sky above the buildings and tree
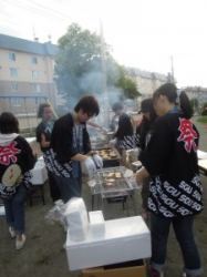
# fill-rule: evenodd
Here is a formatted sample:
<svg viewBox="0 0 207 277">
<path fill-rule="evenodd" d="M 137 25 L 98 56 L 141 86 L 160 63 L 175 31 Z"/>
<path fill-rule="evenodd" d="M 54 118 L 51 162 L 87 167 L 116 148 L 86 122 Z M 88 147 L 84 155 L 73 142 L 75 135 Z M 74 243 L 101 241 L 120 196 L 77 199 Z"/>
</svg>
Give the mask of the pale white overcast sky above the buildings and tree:
<svg viewBox="0 0 207 277">
<path fill-rule="evenodd" d="M 100 33 L 115 60 L 207 88 L 206 0 L 0 0 L 0 33 L 56 43 L 76 22 Z"/>
</svg>

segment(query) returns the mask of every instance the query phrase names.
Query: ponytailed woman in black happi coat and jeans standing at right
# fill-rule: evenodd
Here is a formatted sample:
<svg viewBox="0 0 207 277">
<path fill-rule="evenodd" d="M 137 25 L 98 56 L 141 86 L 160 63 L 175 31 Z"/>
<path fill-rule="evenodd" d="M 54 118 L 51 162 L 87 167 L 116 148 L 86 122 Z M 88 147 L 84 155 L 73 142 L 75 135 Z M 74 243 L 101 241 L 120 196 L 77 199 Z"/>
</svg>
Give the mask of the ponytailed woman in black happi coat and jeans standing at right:
<svg viewBox="0 0 207 277">
<path fill-rule="evenodd" d="M 190 117 L 193 109 L 185 92 L 166 83 L 153 95 L 159 116 L 147 147 L 141 154 L 143 167 L 137 183 L 151 176 L 151 276 L 163 276 L 167 238 L 173 225 L 187 277 L 201 276 L 201 264 L 194 239 L 194 217 L 203 209 L 201 182 L 197 164 L 199 133 Z"/>
</svg>

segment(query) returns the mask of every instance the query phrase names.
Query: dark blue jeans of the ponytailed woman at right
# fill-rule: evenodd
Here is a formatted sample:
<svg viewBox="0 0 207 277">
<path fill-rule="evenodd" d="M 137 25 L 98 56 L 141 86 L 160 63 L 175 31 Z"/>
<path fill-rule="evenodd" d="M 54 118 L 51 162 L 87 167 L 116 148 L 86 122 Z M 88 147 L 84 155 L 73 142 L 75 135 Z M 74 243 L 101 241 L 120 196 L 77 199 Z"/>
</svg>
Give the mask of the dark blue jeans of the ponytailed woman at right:
<svg viewBox="0 0 207 277">
<path fill-rule="evenodd" d="M 200 276 L 200 258 L 193 232 L 194 216 L 165 218 L 155 214 L 151 215 L 152 266 L 158 271 L 162 271 L 164 267 L 170 224 L 173 224 L 182 249 L 185 264 L 184 271 L 188 276 Z"/>
</svg>

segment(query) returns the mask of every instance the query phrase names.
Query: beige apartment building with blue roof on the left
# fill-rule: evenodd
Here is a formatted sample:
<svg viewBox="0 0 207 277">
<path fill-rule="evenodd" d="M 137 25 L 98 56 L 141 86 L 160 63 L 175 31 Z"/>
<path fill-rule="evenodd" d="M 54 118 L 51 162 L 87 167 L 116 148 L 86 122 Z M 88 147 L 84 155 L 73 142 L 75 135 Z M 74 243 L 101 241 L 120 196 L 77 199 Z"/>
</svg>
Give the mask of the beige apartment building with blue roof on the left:
<svg viewBox="0 0 207 277">
<path fill-rule="evenodd" d="M 21 129 L 37 125 L 40 103 L 55 106 L 53 82 L 58 47 L 0 34 L 0 112 L 13 112 Z"/>
</svg>

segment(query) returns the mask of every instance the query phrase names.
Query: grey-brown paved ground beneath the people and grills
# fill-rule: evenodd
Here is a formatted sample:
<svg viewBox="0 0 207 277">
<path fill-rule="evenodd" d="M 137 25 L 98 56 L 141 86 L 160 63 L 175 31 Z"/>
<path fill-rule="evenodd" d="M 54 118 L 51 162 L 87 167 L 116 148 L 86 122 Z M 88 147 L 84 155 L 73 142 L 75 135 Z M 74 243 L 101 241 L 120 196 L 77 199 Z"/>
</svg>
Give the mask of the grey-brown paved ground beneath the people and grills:
<svg viewBox="0 0 207 277">
<path fill-rule="evenodd" d="M 207 151 L 207 125 L 197 124 L 201 134 L 200 148 Z M 207 205 L 207 177 L 203 177 L 204 201 Z M 91 209 L 90 192 L 84 187 L 83 197 Z M 139 209 L 139 194 L 136 195 L 136 204 Z M 32 207 L 27 206 L 27 234 L 25 247 L 14 250 L 14 242 L 9 238 L 4 218 L 0 217 L 0 277 L 76 277 L 80 273 L 70 273 L 68 269 L 65 250 L 65 233 L 58 224 L 49 225 L 44 216 L 52 207 L 46 195 L 46 205 L 37 201 Z M 130 214 L 133 215 L 132 207 Z M 105 208 L 106 218 L 127 216 L 120 204 L 110 204 Z M 197 244 L 203 258 L 203 265 L 207 273 L 207 209 L 196 217 L 195 233 Z M 183 267 L 182 256 L 174 234 L 168 242 L 168 255 L 166 263 L 166 277 L 179 277 Z M 206 276 L 206 275 L 205 275 Z"/>
</svg>

